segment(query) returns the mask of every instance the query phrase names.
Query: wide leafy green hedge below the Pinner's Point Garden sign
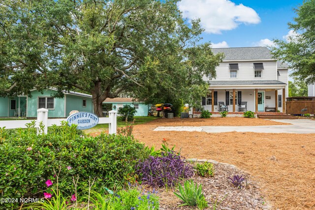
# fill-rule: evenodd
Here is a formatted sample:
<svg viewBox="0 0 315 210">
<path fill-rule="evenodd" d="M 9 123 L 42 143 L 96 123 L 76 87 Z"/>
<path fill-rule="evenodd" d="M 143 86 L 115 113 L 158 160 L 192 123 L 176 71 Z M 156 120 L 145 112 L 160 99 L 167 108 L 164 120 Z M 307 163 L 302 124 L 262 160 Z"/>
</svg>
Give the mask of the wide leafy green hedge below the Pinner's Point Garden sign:
<svg viewBox="0 0 315 210">
<path fill-rule="evenodd" d="M 101 134 L 79 135 L 75 126 L 52 127 L 48 135 L 36 135 L 32 127 L 15 132 L 0 131 L 0 197 L 42 197 L 45 181 L 56 182 L 53 170 L 61 168 L 59 186 L 71 193 L 72 176 L 79 175 L 85 187 L 89 177 L 95 187 L 125 184 L 137 177 L 137 159 L 147 158 L 144 145 L 132 137 Z M 40 192 L 40 193 L 38 193 Z M 36 194 L 37 193 L 37 194 Z M 0 209 L 11 209 L 6 204 Z"/>
</svg>

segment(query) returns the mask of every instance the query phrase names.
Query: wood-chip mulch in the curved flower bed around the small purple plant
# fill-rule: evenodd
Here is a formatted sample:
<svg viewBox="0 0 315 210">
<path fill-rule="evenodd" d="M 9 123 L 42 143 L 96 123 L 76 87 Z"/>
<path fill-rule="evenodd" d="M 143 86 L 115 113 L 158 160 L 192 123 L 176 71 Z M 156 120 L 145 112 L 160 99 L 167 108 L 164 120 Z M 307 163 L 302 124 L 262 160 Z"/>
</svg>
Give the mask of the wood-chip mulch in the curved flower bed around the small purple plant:
<svg viewBox="0 0 315 210">
<path fill-rule="evenodd" d="M 192 179 L 194 183 L 202 184 L 202 192 L 209 203 L 209 207 L 206 210 L 212 210 L 214 203 L 216 201 L 220 203 L 225 196 L 217 210 L 263 210 L 268 208 L 259 192 L 257 183 L 252 181 L 250 175 L 225 164 L 214 164 L 214 169 L 214 177 L 194 176 Z M 233 177 L 234 175 L 244 175 L 246 177 L 247 186 L 244 189 L 233 187 L 228 177 Z M 183 182 L 181 182 L 182 185 Z M 244 185 L 246 185 L 245 181 Z M 178 207 L 183 203 L 174 195 L 173 191 L 176 191 L 176 189 L 169 189 L 158 194 L 160 210 L 194 209 L 187 206 Z"/>
</svg>

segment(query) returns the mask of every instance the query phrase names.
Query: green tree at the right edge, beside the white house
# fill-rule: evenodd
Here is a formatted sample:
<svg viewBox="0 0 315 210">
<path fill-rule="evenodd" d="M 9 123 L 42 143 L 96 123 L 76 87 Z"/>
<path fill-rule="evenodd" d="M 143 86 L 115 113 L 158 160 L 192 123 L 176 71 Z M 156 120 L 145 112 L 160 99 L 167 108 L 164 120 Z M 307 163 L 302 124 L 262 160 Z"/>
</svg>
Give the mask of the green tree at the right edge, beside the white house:
<svg viewBox="0 0 315 210">
<path fill-rule="evenodd" d="M 294 77 L 315 83 L 315 0 L 305 0 L 294 10 L 297 17 L 288 26 L 295 35 L 285 41 L 274 40 L 278 47 L 273 52 L 290 65 Z"/>
</svg>

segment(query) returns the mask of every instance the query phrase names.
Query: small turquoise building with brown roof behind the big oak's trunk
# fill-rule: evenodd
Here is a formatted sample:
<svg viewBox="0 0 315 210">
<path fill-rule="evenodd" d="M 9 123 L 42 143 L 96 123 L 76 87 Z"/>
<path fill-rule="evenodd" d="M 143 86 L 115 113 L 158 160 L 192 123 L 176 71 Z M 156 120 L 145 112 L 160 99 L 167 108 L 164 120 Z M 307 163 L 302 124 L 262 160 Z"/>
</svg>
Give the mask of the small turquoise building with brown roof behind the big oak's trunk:
<svg viewBox="0 0 315 210">
<path fill-rule="evenodd" d="M 106 98 L 105 101 L 103 101 L 103 110 L 107 112 L 110 110 L 118 111 L 118 109 L 124 105 L 134 107 L 137 111 L 135 116 L 148 116 L 149 114 L 149 105 L 146 105 L 144 102 L 136 101 L 133 98 Z"/>
</svg>

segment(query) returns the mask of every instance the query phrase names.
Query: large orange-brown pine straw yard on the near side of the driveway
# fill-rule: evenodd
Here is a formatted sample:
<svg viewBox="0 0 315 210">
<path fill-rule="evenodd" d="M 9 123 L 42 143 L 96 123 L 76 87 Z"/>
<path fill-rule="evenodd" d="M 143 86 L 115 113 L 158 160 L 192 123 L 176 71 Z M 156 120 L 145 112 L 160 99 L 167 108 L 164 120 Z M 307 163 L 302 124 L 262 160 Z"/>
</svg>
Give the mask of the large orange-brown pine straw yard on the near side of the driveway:
<svg viewBox="0 0 315 210">
<path fill-rule="evenodd" d="M 234 120 L 241 120 L 237 122 L 241 125 L 251 125 L 253 121 L 250 123 L 249 120 L 256 120 L 244 118 L 208 120 L 219 122 L 219 119 L 220 125 L 231 125 Z M 274 209 L 315 209 L 314 134 L 153 131 L 161 125 L 158 122 L 162 122 L 163 126 L 183 125 L 180 119 L 176 120 L 179 122 L 161 119 L 135 125 L 133 135 L 140 142 L 148 146 L 155 145 L 156 148 L 160 148 L 165 138 L 170 146 L 176 145 L 175 149 L 182 148 L 182 154 L 187 158 L 213 159 L 246 170 L 259 182 L 263 194 L 271 201 Z M 199 126 L 201 124 L 199 120 L 204 119 L 196 119 L 196 124 L 191 121 L 191 124 L 185 125 Z"/>
</svg>

